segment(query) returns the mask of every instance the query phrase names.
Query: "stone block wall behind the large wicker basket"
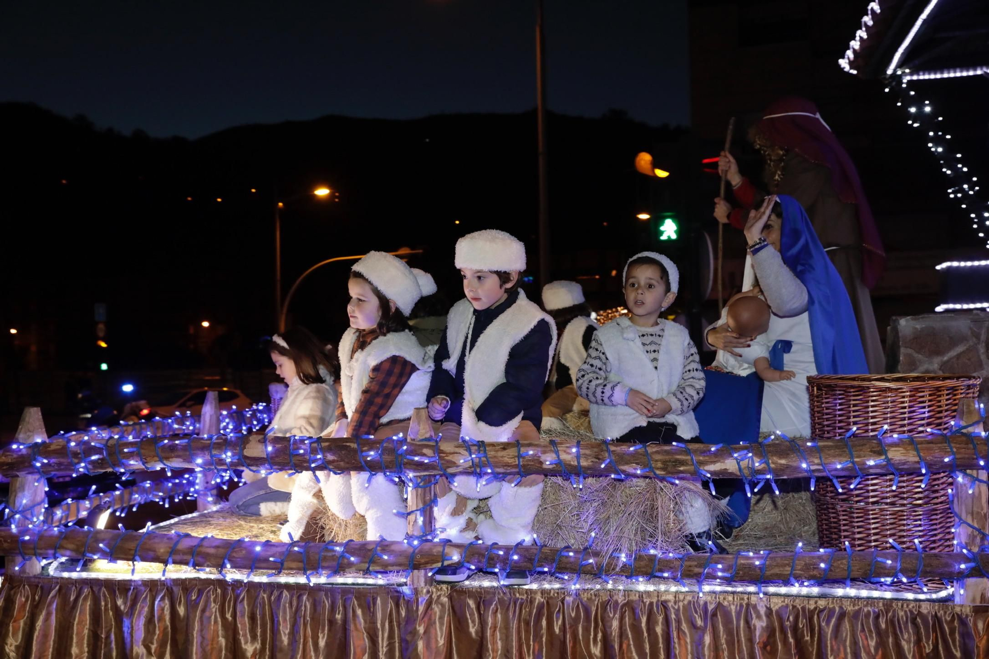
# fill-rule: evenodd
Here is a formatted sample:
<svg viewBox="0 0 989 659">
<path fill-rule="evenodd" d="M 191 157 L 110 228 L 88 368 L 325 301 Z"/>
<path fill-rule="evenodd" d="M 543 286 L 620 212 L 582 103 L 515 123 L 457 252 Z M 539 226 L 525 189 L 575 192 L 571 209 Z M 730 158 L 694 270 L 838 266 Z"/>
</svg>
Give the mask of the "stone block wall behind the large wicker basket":
<svg viewBox="0 0 989 659">
<path fill-rule="evenodd" d="M 982 377 L 989 406 L 989 312 L 894 317 L 886 336 L 890 373 L 960 373 Z"/>
</svg>

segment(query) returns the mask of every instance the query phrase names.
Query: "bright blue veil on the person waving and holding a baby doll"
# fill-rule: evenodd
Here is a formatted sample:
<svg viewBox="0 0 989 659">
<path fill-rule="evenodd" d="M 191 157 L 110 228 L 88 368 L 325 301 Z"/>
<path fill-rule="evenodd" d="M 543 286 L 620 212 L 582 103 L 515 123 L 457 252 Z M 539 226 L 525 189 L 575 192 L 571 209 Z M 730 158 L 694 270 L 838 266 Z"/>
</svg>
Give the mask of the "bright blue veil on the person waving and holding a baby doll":
<svg viewBox="0 0 989 659">
<path fill-rule="evenodd" d="M 817 372 L 822 375 L 868 373 L 845 282 L 828 258 L 800 202 L 788 195 L 779 195 L 777 199 L 783 207 L 779 251 L 786 267 L 807 289 Z"/>
</svg>

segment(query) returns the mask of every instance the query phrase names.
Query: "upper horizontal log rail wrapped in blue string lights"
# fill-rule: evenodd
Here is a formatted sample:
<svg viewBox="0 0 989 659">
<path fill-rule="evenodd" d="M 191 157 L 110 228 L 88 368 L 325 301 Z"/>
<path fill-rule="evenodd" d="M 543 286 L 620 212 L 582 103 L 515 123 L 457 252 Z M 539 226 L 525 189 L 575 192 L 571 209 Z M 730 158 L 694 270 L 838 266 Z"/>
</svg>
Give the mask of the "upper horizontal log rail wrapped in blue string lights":
<svg viewBox="0 0 989 659">
<path fill-rule="evenodd" d="M 478 444 L 297 436 L 268 436 L 265 440 L 263 432 L 255 432 L 209 437 L 111 438 L 105 443 L 77 442 L 75 446 L 56 438 L 27 448 L 0 451 L 0 474 L 37 476 L 39 469 L 45 475 L 81 473 L 83 464 L 89 472 L 160 467 L 213 469 L 216 464 L 218 470 L 270 473 L 309 471 L 311 459 L 316 469 L 325 468 L 320 466 L 320 460 L 324 459 L 327 467 L 339 471 L 389 473 L 401 465 L 403 473 L 408 475 L 442 473 L 466 478 L 475 473 L 517 474 L 519 466 L 526 474 L 551 476 L 617 476 L 620 469 L 626 477 L 682 478 L 697 476 L 699 468 L 712 478 L 739 478 L 738 458 L 747 477 L 755 462 L 765 460 L 768 466 L 761 464 L 756 473 L 768 475 L 771 469 L 773 478 L 778 479 L 892 474 L 893 469 L 900 474 L 920 473 L 921 460 L 928 473 L 980 469 L 979 459 L 986 452 L 985 437 L 963 434 L 923 436 L 917 440 L 885 435 L 881 439 L 862 436 L 790 442 L 775 438 L 757 444 L 643 446 L 563 437 Z M 850 459 L 852 455 L 854 463 Z M 649 464 L 655 473 L 650 471 Z"/>
</svg>

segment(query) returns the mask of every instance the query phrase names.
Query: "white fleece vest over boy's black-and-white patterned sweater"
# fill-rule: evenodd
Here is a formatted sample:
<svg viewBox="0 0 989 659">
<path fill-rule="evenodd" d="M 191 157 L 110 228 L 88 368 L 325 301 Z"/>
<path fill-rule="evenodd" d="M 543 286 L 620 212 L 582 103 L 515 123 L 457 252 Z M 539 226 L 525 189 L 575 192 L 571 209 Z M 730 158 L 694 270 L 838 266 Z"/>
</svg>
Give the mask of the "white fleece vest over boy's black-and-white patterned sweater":
<svg viewBox="0 0 989 659">
<path fill-rule="evenodd" d="M 664 398 L 674 392 L 683 377 L 683 354 L 690 335 L 686 329 L 671 321 L 661 319 L 658 325 L 663 327 L 659 369 L 653 368 L 649 355 L 642 347 L 638 329 L 627 318 L 617 318 L 597 330 L 597 337 L 611 364 L 608 382 L 619 381 L 652 398 Z M 590 425 L 598 437 L 615 439 L 633 427 L 651 421 L 674 424 L 676 433 L 684 439 L 699 434 L 693 412 L 650 419 L 625 405 L 590 406 Z"/>
</svg>

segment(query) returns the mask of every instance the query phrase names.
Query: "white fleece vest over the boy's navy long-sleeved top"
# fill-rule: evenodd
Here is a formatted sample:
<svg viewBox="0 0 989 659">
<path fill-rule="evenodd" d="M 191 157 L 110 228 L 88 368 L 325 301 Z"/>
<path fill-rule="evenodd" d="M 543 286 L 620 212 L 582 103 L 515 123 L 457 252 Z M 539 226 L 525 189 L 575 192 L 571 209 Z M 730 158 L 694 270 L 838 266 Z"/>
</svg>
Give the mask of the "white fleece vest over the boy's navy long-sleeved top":
<svg viewBox="0 0 989 659">
<path fill-rule="evenodd" d="M 457 362 L 468 343 L 468 329 L 474 318 L 474 307 L 466 298 L 453 306 L 446 321 L 446 342 L 450 357 L 443 361 L 443 368 L 456 377 Z M 488 398 L 494 388 L 505 381 L 504 367 L 511 348 L 529 333 L 540 321 L 546 321 L 553 336 L 549 354 L 546 355 L 546 376 L 549 376 L 556 351 L 556 326 L 553 319 L 529 302 L 525 293 L 518 292 L 514 304 L 498 316 L 469 348 L 464 362 L 464 407 L 460 433 L 465 437 L 483 441 L 507 441 L 522 421 L 522 411 L 506 424 L 489 425 L 478 419 L 475 410 Z M 544 377 L 543 383 L 546 382 Z M 540 383 L 541 385 L 542 383 Z"/>
</svg>

